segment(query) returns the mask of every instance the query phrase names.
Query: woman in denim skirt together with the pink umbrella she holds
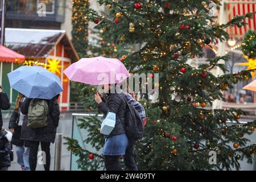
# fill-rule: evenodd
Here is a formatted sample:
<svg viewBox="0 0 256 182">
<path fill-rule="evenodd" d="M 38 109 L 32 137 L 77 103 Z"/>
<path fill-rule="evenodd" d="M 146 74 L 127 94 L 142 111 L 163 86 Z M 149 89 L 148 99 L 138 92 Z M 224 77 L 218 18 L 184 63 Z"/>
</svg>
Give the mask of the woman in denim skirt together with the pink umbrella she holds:
<svg viewBox="0 0 256 182">
<path fill-rule="evenodd" d="M 108 113 L 115 114 L 114 129 L 109 135 L 105 135 L 104 162 L 108 171 L 121 171 L 119 159 L 125 155 L 128 144 L 124 128 L 127 105 L 122 92 L 115 88 L 118 88 L 118 83 L 130 76 L 125 65 L 118 59 L 93 57 L 73 63 L 65 69 L 64 73 L 72 81 L 89 85 L 104 85 L 104 92 L 108 96 L 106 101 L 100 93 L 97 92 L 94 95 L 98 109 L 104 113 L 104 118 Z"/>
</svg>

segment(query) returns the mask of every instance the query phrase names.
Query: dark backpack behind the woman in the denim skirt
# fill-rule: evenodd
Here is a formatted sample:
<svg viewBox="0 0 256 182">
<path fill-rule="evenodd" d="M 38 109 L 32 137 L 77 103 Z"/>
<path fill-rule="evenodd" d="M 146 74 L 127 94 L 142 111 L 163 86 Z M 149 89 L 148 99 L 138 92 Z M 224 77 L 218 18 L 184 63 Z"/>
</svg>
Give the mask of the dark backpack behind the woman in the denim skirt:
<svg viewBox="0 0 256 182">
<path fill-rule="evenodd" d="M 123 95 L 127 109 L 125 115 L 125 133 L 129 140 L 138 140 L 143 137 L 143 123 L 133 104 L 129 104 Z"/>
</svg>

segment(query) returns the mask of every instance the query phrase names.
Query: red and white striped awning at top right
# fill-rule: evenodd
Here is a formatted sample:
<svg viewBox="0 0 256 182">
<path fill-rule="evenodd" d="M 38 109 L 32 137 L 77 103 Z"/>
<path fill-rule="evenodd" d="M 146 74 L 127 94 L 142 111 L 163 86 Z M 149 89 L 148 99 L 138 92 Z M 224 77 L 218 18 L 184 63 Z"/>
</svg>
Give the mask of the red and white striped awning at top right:
<svg viewBox="0 0 256 182">
<path fill-rule="evenodd" d="M 228 3 L 228 9 L 227 9 L 229 20 L 231 20 L 236 15 L 245 15 L 246 13 L 256 11 L 256 0 L 229 0 L 229 2 L 230 3 Z M 240 3 L 236 3 L 236 2 L 240 2 Z M 254 3 L 251 3 L 251 2 L 254 2 Z M 245 33 L 249 29 L 256 30 L 255 14 L 253 15 L 253 19 L 246 18 L 244 21 L 248 24 L 246 24 L 245 26 L 242 26 L 241 28 L 238 28 L 237 26 L 227 28 L 230 38 L 242 39 Z"/>
</svg>

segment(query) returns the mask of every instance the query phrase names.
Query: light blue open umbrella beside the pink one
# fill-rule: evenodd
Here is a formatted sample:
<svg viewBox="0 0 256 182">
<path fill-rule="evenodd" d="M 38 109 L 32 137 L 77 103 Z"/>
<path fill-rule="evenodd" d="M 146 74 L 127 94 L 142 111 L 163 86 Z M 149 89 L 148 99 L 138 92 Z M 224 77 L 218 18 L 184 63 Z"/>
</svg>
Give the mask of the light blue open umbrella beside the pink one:
<svg viewBox="0 0 256 182">
<path fill-rule="evenodd" d="M 63 91 L 60 78 L 43 67 L 19 67 L 7 76 L 11 88 L 28 98 L 50 100 Z"/>
</svg>

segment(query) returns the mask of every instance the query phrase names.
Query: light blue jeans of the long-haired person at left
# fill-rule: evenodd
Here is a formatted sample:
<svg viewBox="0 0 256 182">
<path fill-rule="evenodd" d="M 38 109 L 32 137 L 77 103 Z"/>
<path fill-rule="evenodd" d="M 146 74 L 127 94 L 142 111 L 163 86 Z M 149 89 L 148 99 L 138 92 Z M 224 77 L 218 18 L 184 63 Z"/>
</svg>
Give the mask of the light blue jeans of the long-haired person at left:
<svg viewBox="0 0 256 182">
<path fill-rule="evenodd" d="M 30 148 L 16 146 L 17 162 L 20 166 L 25 168 L 25 171 L 30 171 Z"/>
</svg>

